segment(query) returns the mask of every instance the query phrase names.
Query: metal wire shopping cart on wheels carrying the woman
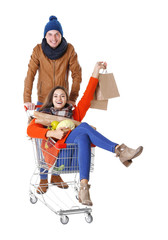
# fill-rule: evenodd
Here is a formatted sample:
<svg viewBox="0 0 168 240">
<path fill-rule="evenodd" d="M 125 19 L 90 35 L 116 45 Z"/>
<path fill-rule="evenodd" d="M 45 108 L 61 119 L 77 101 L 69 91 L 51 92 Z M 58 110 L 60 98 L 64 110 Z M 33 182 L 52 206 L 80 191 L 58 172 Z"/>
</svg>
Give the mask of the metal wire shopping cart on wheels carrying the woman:
<svg viewBox="0 0 168 240">
<path fill-rule="evenodd" d="M 69 222 L 69 215 L 84 214 L 88 223 L 93 221 L 92 208 L 79 203 L 78 192 L 80 187 L 78 145 L 59 144 L 53 139 L 31 139 L 34 149 L 36 167 L 30 180 L 30 202 L 35 204 L 38 200 L 44 203 L 50 210 L 60 216 L 62 224 Z M 90 172 L 94 169 L 95 149 L 91 148 Z M 52 162 L 52 164 L 51 164 Z M 48 174 L 48 179 L 53 174 L 61 175 L 68 189 L 58 188 L 48 183 L 46 193 L 39 191 L 40 175 Z M 49 182 L 49 181 L 48 181 Z M 60 182 L 60 184 L 62 184 Z"/>
</svg>

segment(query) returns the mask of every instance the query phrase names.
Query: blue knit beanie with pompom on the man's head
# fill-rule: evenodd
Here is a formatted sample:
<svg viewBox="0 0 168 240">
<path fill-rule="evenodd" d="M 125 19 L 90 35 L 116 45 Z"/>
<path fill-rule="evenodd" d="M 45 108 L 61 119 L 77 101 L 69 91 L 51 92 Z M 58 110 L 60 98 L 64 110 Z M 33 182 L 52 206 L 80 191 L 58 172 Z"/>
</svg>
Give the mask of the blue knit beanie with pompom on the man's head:
<svg viewBox="0 0 168 240">
<path fill-rule="evenodd" d="M 61 26 L 60 22 L 57 20 L 57 17 L 55 17 L 55 16 L 49 17 L 49 22 L 46 24 L 46 26 L 44 28 L 44 37 L 45 37 L 46 33 L 50 30 L 59 31 L 63 37 L 62 26 Z"/>
</svg>

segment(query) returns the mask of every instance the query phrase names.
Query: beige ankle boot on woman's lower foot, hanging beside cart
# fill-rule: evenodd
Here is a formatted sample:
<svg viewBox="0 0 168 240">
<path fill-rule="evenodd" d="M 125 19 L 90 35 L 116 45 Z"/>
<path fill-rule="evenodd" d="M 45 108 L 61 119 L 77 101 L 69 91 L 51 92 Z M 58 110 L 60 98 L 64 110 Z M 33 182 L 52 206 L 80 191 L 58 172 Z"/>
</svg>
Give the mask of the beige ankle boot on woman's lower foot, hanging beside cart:
<svg viewBox="0 0 168 240">
<path fill-rule="evenodd" d="M 86 183 L 80 183 L 80 191 L 79 191 L 79 202 L 83 205 L 92 206 L 93 203 L 90 200 L 89 194 L 90 185 Z"/>
</svg>

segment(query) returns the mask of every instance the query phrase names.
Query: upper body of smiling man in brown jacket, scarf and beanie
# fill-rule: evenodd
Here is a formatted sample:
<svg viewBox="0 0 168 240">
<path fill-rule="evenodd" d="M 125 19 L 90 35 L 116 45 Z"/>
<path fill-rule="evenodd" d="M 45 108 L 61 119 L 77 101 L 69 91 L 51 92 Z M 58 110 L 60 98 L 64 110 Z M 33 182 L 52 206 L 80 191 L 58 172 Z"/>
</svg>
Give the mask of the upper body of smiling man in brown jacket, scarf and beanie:
<svg viewBox="0 0 168 240">
<path fill-rule="evenodd" d="M 49 18 L 44 28 L 44 38 L 37 44 L 28 65 L 24 81 L 24 105 L 32 110 L 35 104 L 31 102 L 33 81 L 38 70 L 37 105 L 42 105 L 46 96 L 54 86 L 63 86 L 69 91 L 68 75 L 72 75 L 72 86 L 69 101 L 75 104 L 78 97 L 81 77 L 81 67 L 72 44 L 63 37 L 60 22 L 55 16 Z"/>
</svg>

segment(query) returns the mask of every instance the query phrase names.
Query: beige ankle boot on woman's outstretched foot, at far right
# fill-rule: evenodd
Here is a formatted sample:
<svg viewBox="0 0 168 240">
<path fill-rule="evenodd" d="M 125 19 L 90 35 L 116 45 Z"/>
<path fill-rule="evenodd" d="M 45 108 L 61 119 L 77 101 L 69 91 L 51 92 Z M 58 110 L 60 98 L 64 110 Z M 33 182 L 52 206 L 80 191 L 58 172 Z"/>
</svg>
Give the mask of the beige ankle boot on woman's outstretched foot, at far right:
<svg viewBox="0 0 168 240">
<path fill-rule="evenodd" d="M 116 157 L 120 158 L 120 161 L 129 167 L 132 163 L 132 159 L 138 157 L 143 151 L 143 147 L 140 146 L 137 149 L 127 147 L 125 144 L 118 146 L 115 150 Z"/>
</svg>

